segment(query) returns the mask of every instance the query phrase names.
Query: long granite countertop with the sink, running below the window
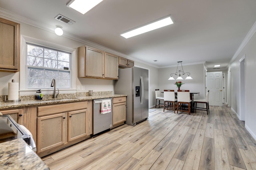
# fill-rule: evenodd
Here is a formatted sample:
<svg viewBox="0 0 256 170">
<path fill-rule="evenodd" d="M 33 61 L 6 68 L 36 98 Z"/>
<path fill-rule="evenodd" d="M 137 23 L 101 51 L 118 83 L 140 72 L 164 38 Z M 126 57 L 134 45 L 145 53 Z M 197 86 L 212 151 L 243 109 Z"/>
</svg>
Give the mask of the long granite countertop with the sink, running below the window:
<svg viewBox="0 0 256 170">
<path fill-rule="evenodd" d="M 65 102 L 79 102 L 86 100 L 94 100 L 94 99 L 103 99 L 103 98 L 116 98 L 116 97 L 124 97 L 126 94 L 106 94 L 106 95 L 97 95 L 97 96 L 84 96 L 84 97 L 72 97 L 72 98 L 56 98 L 56 99 L 46 99 L 46 100 L 21 100 L 20 102 L 0 102 L 0 109 L 8 109 L 15 107 L 23 107 L 23 106 L 37 106 L 37 105 L 45 105 L 45 104 L 58 104 Z"/>
</svg>

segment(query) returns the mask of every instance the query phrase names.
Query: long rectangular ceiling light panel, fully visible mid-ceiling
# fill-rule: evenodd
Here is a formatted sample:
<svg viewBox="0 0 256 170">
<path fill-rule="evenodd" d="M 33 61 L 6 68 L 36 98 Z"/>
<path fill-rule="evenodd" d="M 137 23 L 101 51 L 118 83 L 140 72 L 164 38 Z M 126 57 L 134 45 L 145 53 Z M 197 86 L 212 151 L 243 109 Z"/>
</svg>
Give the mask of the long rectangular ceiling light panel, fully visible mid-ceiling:
<svg viewBox="0 0 256 170">
<path fill-rule="evenodd" d="M 167 18 L 161 18 L 160 20 L 154 21 L 152 23 L 149 23 L 147 25 L 144 25 L 142 27 L 138 27 L 136 29 L 132 29 L 130 31 L 127 31 L 125 33 L 120 34 L 121 36 L 125 37 L 125 38 L 130 38 L 133 37 L 135 35 L 139 35 L 142 33 L 146 33 L 148 31 L 152 31 L 154 29 L 158 29 L 167 25 L 173 24 L 173 21 L 171 19 L 170 16 L 168 16 Z"/>
</svg>

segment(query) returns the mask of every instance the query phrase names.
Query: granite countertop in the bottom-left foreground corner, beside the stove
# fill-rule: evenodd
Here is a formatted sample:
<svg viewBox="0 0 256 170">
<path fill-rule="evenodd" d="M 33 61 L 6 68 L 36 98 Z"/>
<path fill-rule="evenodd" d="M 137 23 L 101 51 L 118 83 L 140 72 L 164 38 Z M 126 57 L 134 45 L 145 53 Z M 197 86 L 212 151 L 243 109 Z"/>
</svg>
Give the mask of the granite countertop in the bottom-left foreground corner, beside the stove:
<svg viewBox="0 0 256 170">
<path fill-rule="evenodd" d="M 1 170 L 49 170 L 23 139 L 0 143 Z"/>
</svg>

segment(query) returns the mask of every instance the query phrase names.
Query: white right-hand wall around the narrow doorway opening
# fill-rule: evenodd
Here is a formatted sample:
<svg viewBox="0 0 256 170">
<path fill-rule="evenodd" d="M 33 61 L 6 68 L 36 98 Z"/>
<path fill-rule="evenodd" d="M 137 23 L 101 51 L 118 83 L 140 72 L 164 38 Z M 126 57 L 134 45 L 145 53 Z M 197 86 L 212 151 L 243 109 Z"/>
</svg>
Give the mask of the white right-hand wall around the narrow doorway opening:
<svg viewBox="0 0 256 170">
<path fill-rule="evenodd" d="M 238 116 L 240 115 L 240 59 L 245 55 L 245 127 L 256 139 L 256 111 L 255 111 L 255 96 L 256 96 L 256 34 L 246 43 L 237 57 L 230 64 L 231 69 L 231 107 Z"/>
</svg>

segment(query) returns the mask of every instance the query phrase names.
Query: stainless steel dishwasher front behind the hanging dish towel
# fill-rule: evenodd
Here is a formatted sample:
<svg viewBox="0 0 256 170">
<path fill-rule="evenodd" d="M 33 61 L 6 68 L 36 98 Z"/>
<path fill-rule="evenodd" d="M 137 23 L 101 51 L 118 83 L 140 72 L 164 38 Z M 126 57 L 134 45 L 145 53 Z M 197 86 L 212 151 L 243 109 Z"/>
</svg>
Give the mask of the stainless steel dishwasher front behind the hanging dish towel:
<svg viewBox="0 0 256 170">
<path fill-rule="evenodd" d="M 102 114 L 101 113 L 101 104 L 102 100 L 111 100 L 111 112 Z M 102 131 L 106 131 L 112 127 L 113 123 L 113 114 L 112 114 L 112 98 L 96 99 L 93 100 L 93 131 L 92 135 L 96 135 Z"/>
</svg>

